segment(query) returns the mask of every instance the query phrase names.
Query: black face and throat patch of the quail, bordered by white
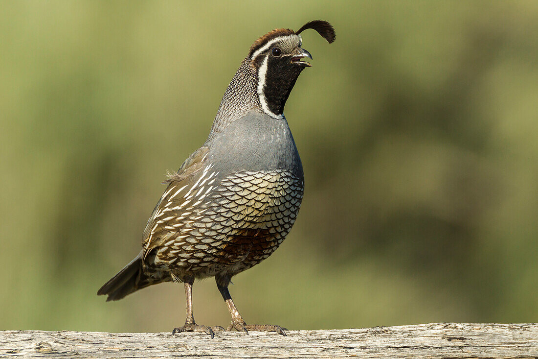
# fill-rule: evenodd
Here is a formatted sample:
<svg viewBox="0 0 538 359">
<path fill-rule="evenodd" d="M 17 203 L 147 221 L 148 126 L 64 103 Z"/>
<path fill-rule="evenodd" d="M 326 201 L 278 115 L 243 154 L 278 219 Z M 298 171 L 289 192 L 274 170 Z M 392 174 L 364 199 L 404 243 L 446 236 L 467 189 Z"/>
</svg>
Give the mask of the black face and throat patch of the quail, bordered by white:
<svg viewBox="0 0 538 359">
<path fill-rule="evenodd" d="M 293 64 L 291 56 L 269 56 L 263 88 L 269 111 L 277 115 L 284 112 L 289 93 L 292 92 L 295 81 L 304 68 Z"/>
</svg>

